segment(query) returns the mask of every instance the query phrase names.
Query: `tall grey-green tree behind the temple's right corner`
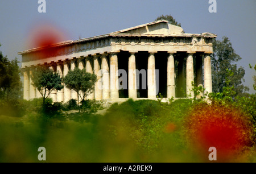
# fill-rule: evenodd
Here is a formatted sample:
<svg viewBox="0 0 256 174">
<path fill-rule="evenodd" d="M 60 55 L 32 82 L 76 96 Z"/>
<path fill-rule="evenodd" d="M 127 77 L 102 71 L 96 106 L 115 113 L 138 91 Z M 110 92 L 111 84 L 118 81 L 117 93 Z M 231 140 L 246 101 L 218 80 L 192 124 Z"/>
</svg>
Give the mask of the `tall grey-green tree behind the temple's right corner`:
<svg viewBox="0 0 256 174">
<path fill-rule="evenodd" d="M 222 93 L 227 85 L 234 86 L 236 96 L 249 91 L 249 88 L 242 84 L 245 69 L 243 69 L 243 67 L 237 68 L 237 65 L 234 64 L 242 58 L 236 54 L 232 43 L 226 36 L 224 36 L 222 40 L 213 40 L 213 53 L 211 58 L 213 93 Z M 228 78 L 229 83 L 226 83 L 227 69 L 233 73 L 232 76 Z"/>
</svg>

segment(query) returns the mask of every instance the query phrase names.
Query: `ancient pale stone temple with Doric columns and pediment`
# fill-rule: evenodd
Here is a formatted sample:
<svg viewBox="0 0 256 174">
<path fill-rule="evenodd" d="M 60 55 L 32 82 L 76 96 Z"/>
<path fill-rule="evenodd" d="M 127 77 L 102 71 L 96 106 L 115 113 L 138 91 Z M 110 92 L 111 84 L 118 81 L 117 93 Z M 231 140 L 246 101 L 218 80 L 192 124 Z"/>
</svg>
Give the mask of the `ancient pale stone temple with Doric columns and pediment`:
<svg viewBox="0 0 256 174">
<path fill-rule="evenodd" d="M 166 20 L 142 24 L 92 38 L 56 43 L 23 52 L 24 99 L 41 97 L 31 85 L 31 68 L 48 66 L 65 76 L 69 70 L 85 68 L 98 77 L 94 92 L 86 98 L 125 101 L 127 98 L 164 99 L 193 97 L 192 82 L 212 92 L 210 56 L 216 35 L 186 34 Z M 40 58 L 39 58 L 40 57 Z M 203 95 L 203 94 L 201 94 Z M 77 99 L 64 86 L 50 94 L 53 101 Z"/>
</svg>

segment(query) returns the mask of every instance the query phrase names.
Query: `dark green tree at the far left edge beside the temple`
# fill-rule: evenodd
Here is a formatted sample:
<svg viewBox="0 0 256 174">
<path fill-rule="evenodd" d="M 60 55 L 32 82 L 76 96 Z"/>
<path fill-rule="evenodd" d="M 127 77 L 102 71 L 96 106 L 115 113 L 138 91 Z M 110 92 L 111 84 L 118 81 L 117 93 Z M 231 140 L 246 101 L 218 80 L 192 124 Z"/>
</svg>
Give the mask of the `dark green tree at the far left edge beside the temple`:
<svg viewBox="0 0 256 174">
<path fill-rule="evenodd" d="M 0 98 L 5 101 L 20 97 L 22 83 L 18 63 L 17 58 L 10 61 L 0 51 Z"/>
</svg>

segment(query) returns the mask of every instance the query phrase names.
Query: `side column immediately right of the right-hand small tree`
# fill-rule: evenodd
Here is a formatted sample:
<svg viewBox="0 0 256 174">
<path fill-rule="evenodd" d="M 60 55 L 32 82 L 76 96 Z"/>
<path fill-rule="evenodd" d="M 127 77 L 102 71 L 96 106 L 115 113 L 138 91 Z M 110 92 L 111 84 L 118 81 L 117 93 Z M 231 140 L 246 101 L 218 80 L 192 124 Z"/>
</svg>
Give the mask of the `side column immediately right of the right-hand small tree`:
<svg viewBox="0 0 256 174">
<path fill-rule="evenodd" d="M 93 72 L 97 76 L 97 81 L 94 87 L 94 98 L 96 100 L 102 100 L 102 78 L 101 78 L 99 57 L 100 55 L 93 56 L 93 66 L 94 66 Z"/>
</svg>

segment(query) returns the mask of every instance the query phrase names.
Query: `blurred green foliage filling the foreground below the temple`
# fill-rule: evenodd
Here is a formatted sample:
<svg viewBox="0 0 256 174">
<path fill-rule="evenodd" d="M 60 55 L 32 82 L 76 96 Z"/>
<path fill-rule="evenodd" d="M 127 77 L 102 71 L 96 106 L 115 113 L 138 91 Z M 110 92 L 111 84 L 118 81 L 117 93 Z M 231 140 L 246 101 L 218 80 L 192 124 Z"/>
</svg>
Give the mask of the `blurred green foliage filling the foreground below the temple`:
<svg viewBox="0 0 256 174">
<path fill-rule="evenodd" d="M 243 142 L 240 144 L 253 140 L 253 122 L 249 112 L 246 108 L 238 109 L 232 103 L 209 104 L 203 100 L 172 98 L 168 102 L 130 99 L 114 103 L 104 115 L 73 111 L 59 114 L 49 111 L 47 117 L 41 117 L 36 108 L 40 108 L 42 100 L 43 98 L 24 101 L 26 117 L 0 117 L 0 161 L 38 161 L 35 156 L 41 146 L 47 149 L 48 162 L 209 161 L 208 149 L 195 151 L 192 146 L 190 140 L 194 136 L 191 134 L 196 129 L 188 129 L 187 123 L 191 123 L 191 126 L 202 122 L 212 124 L 212 118 L 216 118 L 218 114 L 223 121 L 242 121 L 241 132 L 245 131 L 246 134 L 242 136 Z M 99 101 L 87 102 L 88 106 L 89 103 L 93 105 Z M 255 97 L 250 102 L 249 105 L 255 103 Z M 63 108 L 62 103 L 52 103 L 51 100 L 46 103 L 49 104 L 49 110 L 61 112 Z M 100 105 L 88 106 L 88 109 L 94 106 Z M 255 111 L 253 107 L 250 110 Z M 8 136 L 5 132 L 8 132 Z M 246 144 L 243 151 L 240 151 L 245 155 L 242 159 L 234 160 L 250 159 L 255 162 L 254 142 Z M 14 153 L 11 157 L 10 152 Z M 201 158 L 201 155 L 207 159 Z"/>
</svg>

